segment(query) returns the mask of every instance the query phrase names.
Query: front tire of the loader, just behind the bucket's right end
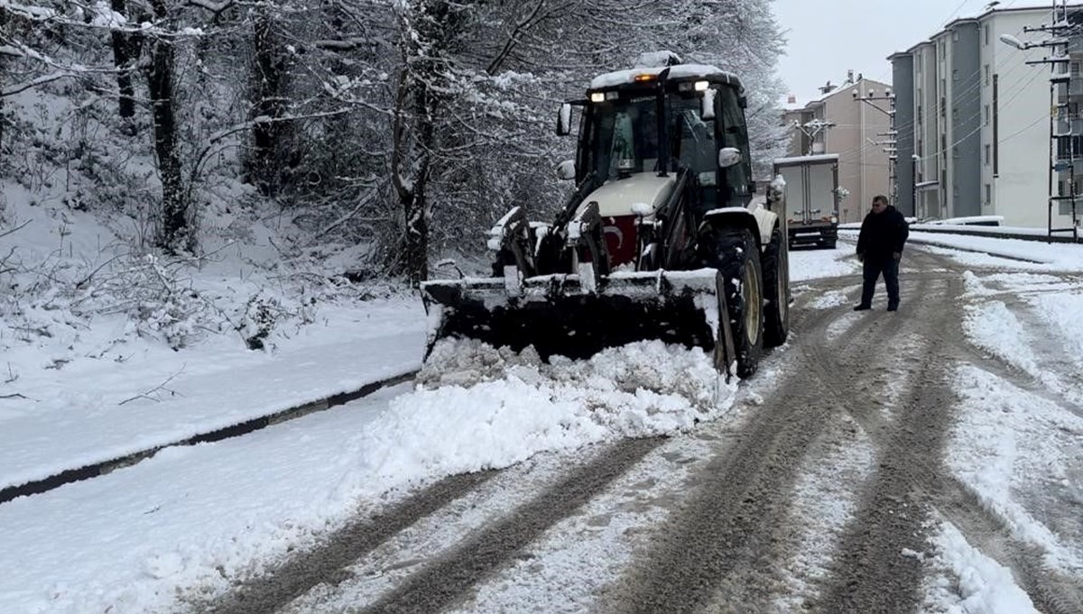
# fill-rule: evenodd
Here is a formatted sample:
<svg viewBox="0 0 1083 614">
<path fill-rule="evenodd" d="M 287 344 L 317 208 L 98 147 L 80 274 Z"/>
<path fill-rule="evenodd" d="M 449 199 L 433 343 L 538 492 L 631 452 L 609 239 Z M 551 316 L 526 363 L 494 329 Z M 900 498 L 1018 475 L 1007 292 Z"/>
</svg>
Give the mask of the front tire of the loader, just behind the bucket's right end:
<svg viewBox="0 0 1083 614">
<path fill-rule="evenodd" d="M 736 374 L 748 377 L 764 353 L 764 276 L 756 238 L 745 228 L 716 228 L 705 246 L 708 265 L 725 278 Z"/>
</svg>

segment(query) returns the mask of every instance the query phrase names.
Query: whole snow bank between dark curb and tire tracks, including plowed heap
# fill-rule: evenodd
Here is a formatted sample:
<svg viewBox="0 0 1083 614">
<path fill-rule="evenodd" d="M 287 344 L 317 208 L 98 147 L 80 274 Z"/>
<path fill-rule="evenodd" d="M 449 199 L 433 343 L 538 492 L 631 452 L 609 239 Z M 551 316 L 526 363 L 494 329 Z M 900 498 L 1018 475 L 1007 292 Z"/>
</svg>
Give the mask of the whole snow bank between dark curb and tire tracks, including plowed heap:
<svg viewBox="0 0 1083 614">
<path fill-rule="evenodd" d="M 553 364 L 445 342 L 422 382 L 0 506 L 0 611 L 175 611 L 410 485 L 689 429 L 736 388 L 661 342 Z"/>
</svg>

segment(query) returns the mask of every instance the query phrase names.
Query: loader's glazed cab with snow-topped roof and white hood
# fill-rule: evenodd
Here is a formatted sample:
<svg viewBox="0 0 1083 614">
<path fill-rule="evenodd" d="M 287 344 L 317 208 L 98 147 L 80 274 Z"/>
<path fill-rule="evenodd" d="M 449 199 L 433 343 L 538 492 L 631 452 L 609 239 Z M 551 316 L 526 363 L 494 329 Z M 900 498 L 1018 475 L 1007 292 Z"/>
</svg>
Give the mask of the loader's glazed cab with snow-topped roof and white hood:
<svg viewBox="0 0 1083 614">
<path fill-rule="evenodd" d="M 558 118 L 558 134 L 570 134 L 571 107 L 583 107 L 575 179 L 597 186 L 586 200 L 606 222 L 615 266 L 634 256 L 639 221 L 667 203 L 680 201 L 697 223 L 707 211 L 747 205 L 754 192 L 740 81 L 676 61 L 601 75 Z"/>
</svg>

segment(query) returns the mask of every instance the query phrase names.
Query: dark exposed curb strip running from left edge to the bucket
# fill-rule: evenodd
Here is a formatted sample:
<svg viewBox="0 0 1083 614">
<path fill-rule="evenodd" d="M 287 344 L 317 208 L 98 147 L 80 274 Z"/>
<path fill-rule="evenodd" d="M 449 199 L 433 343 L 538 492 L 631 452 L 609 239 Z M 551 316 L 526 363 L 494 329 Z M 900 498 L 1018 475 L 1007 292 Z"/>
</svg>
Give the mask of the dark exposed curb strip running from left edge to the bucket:
<svg viewBox="0 0 1083 614">
<path fill-rule="evenodd" d="M 291 421 L 305 416 L 311 413 L 322 412 L 329 410 L 331 408 L 343 405 L 350 401 L 355 401 L 362 397 L 367 397 L 373 392 L 388 386 L 395 386 L 404 382 L 409 382 L 417 375 L 417 370 L 408 371 L 406 373 L 401 373 L 391 377 L 386 377 L 377 382 L 371 382 L 365 384 L 361 388 L 354 390 L 348 390 L 345 392 L 338 392 L 317 399 L 315 401 L 310 401 L 308 403 L 290 408 L 288 410 L 282 410 L 270 415 L 260 416 L 251 419 L 247 419 L 243 423 L 238 423 L 232 426 L 219 428 L 209 432 L 204 432 L 200 435 L 193 436 L 188 439 L 177 441 L 173 443 L 167 443 L 164 445 L 158 445 L 140 452 L 134 452 L 118 458 L 112 458 L 109 460 L 103 460 L 101 463 L 95 463 L 93 465 L 88 465 L 84 467 L 78 467 L 75 469 L 67 469 L 61 471 L 60 473 L 54 473 L 48 478 L 40 480 L 32 480 L 19 484 L 17 486 L 8 486 L 0 490 L 0 504 L 8 503 L 14 498 L 21 496 L 36 495 L 51 491 L 63 486 L 64 484 L 69 484 L 71 482 L 79 482 L 82 480 L 89 480 L 91 478 L 96 478 L 99 476 L 104 476 L 117 469 L 122 469 L 125 467 L 130 467 L 151 458 L 159 451 L 166 448 L 173 448 L 180 445 L 195 445 L 197 443 L 211 443 L 214 441 L 221 441 L 223 439 L 230 439 L 231 437 L 240 437 L 243 435 L 248 435 L 252 431 L 266 428 L 272 425 L 284 423 L 286 421 Z"/>
</svg>

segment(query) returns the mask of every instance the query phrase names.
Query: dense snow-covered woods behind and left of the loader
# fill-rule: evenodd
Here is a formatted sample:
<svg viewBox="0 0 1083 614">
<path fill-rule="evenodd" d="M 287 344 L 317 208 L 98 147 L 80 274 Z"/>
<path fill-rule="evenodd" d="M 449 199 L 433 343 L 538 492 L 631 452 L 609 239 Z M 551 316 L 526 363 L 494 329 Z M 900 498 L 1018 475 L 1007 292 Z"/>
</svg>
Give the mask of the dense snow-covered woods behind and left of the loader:
<svg viewBox="0 0 1083 614">
<path fill-rule="evenodd" d="M 313 240 L 369 244 L 362 267 L 418 282 L 430 254 L 480 250 L 481 231 L 510 205 L 544 217 L 562 200 L 566 186 L 551 170 L 574 143 L 552 134 L 558 103 L 582 97 L 592 76 L 628 68 L 644 51 L 673 50 L 741 76 L 754 156 L 775 156 L 786 136 L 773 108 L 784 41 L 770 8 L 771 0 L 9 1 L 0 17 L 38 27 L 0 28 L 0 55 L 9 58 L 0 78 L 10 91 L 89 66 L 94 71 L 80 77 L 88 91 L 109 92 L 131 134 L 153 128 L 167 249 L 194 246 L 201 182 L 233 172 Z M 86 40 L 65 51 L 68 62 L 27 38 L 42 23 L 83 28 Z M 55 50 L 73 39 L 52 40 Z M 14 68 L 13 53 L 21 54 Z M 216 151 L 235 154 L 237 164 L 208 169 Z"/>
</svg>

